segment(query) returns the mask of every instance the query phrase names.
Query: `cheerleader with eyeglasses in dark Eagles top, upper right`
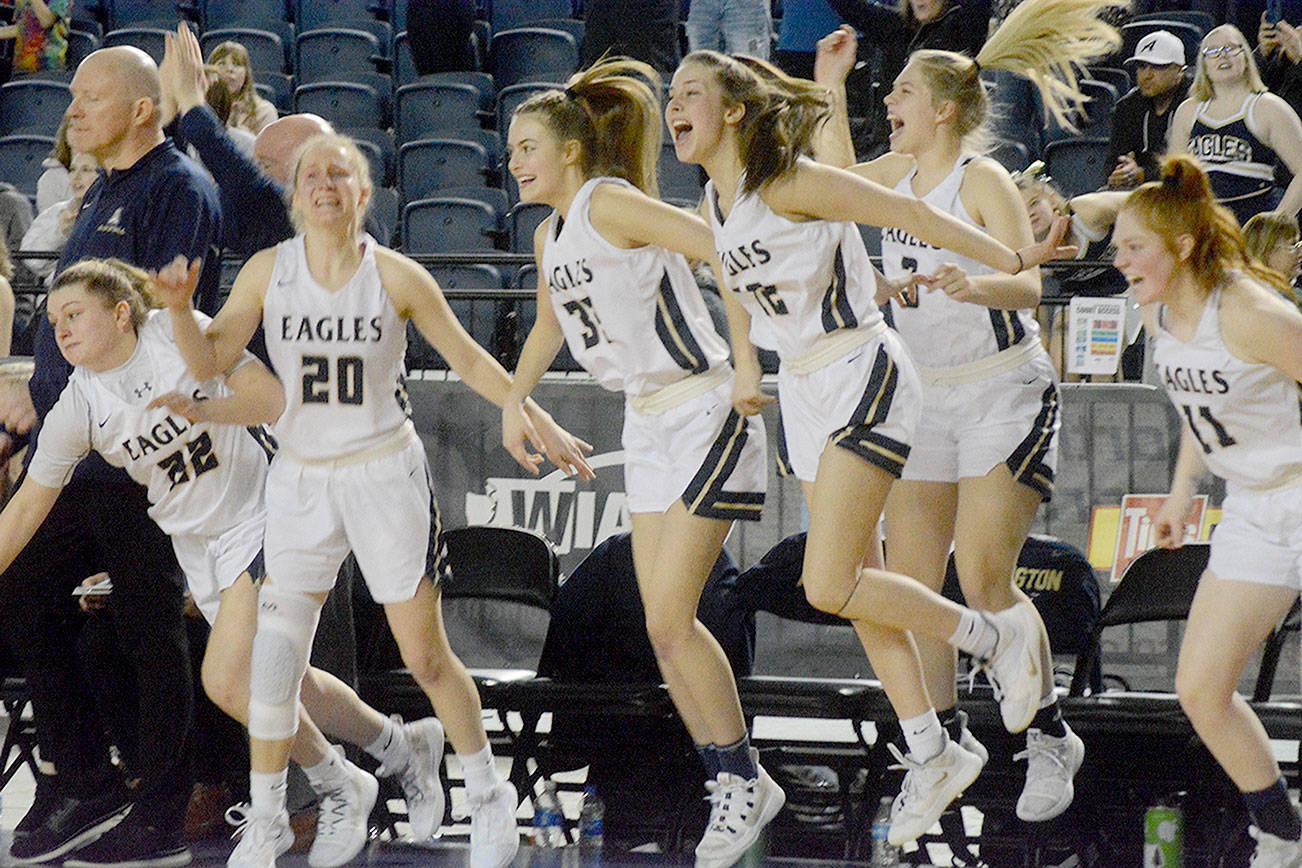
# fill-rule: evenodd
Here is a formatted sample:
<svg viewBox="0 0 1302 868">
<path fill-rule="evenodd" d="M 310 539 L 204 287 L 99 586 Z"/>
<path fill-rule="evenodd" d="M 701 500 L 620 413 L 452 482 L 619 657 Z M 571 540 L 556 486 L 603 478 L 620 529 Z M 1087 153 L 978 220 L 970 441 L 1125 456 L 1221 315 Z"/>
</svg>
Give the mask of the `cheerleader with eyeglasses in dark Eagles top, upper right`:
<svg viewBox="0 0 1302 868">
<path fill-rule="evenodd" d="M 1243 34 L 1233 25 L 1208 33 L 1198 52 L 1194 86 L 1172 122 L 1173 152 L 1194 156 L 1216 202 L 1240 224 L 1275 207 L 1275 165 L 1293 174 L 1279 210 L 1302 207 L 1302 121 L 1267 91 Z"/>
</svg>

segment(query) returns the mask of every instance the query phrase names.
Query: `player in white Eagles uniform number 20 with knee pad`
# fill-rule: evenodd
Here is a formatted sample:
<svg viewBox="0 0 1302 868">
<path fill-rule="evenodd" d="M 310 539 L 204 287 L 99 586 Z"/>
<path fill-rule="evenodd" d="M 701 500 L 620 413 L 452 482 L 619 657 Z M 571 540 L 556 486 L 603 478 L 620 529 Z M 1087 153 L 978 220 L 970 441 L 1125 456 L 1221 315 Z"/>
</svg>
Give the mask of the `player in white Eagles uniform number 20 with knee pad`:
<svg viewBox="0 0 1302 868">
<path fill-rule="evenodd" d="M 224 370 L 263 324 L 286 409 L 267 480 L 267 582 L 254 639 L 249 734 L 251 809 L 234 867 L 266 867 L 293 843 L 285 812 L 286 748 L 298 725 L 297 682 L 316 616 L 352 550 L 381 603 L 402 660 L 447 727 L 466 774 L 471 863 L 501 868 L 519 845 L 514 787 L 501 781 L 479 698 L 448 647 L 439 541 L 424 452 L 406 411 L 406 320 L 470 388 L 501 403 L 510 379 L 457 323 L 428 273 L 361 233 L 370 199 L 365 157 L 352 141 L 323 135 L 299 151 L 293 213 L 302 233 L 256 254 L 230 298 L 201 331 L 182 264 L 160 276 L 176 314 L 177 344 L 195 376 Z M 536 405 L 530 439 L 566 470 L 591 475 L 579 441 Z M 536 470 L 542 455 L 517 455 Z"/>
</svg>

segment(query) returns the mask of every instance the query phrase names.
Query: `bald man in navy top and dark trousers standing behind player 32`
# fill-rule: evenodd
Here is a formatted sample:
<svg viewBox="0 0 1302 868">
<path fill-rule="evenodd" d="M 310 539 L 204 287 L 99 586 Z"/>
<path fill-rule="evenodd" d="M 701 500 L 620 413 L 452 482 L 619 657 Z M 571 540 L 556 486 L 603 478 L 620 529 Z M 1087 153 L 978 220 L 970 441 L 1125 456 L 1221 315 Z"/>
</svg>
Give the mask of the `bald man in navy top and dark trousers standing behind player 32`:
<svg viewBox="0 0 1302 868">
<path fill-rule="evenodd" d="M 94 154 L 104 172 L 86 193 L 57 269 L 104 256 L 151 269 L 177 255 L 202 258 L 211 272 L 211 310 L 220 264 L 217 191 L 163 137 L 154 61 L 135 48 L 96 51 L 77 69 L 72 92 L 69 143 Z M 44 311 L 36 320 L 35 372 L 21 396 L 36 418 L 33 439 L 70 372 Z M 133 388 L 145 397 L 151 384 Z M 0 410 L 0 418 L 12 418 L 9 409 Z M 184 432 L 141 435 L 160 461 L 176 457 L 184 465 L 197 454 Z M 74 868 L 173 868 L 190 861 L 180 837 L 190 795 L 185 743 L 193 704 L 182 578 L 147 505 L 145 491 L 124 471 L 90 455 L 0 576 L 0 630 L 31 690 L 42 759 L 55 768 L 55 774 L 38 776 L 35 802 L 14 829 L 13 861 L 61 858 Z M 100 571 L 112 576 L 113 591 L 96 617 L 108 618 L 130 671 L 132 708 L 96 705 L 86 685 L 103 675 L 77 669 L 81 621 L 72 592 Z M 104 721 L 112 717 L 126 724 L 108 731 L 118 734 L 126 776 L 138 778 L 130 790 L 109 763 Z M 124 731 L 134 738 L 124 738 Z"/>
</svg>

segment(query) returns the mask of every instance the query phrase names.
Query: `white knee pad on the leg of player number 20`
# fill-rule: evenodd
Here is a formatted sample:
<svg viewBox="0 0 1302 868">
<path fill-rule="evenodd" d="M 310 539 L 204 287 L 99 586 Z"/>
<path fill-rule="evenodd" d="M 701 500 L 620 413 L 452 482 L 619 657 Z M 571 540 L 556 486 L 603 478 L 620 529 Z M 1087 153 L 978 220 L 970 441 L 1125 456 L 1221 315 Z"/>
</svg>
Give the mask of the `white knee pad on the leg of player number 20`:
<svg viewBox="0 0 1302 868">
<path fill-rule="evenodd" d="M 249 679 L 249 735 L 273 742 L 298 730 L 298 691 L 316 634 L 320 604 L 306 593 L 264 584 Z"/>
</svg>

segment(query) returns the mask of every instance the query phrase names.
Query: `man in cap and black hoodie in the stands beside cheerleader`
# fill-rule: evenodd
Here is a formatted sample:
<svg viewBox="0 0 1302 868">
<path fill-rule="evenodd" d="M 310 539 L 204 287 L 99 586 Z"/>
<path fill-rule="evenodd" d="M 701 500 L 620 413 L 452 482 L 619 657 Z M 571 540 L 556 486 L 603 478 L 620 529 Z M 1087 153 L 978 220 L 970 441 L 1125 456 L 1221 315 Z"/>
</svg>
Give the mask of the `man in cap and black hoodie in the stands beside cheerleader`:
<svg viewBox="0 0 1302 868">
<path fill-rule="evenodd" d="M 1157 157 L 1167 152 L 1167 134 L 1176 107 L 1189 95 L 1185 77 L 1185 43 L 1180 36 L 1155 30 L 1135 46 L 1126 60 L 1135 86 L 1117 100 L 1108 142 L 1108 176 L 1112 190 L 1133 190 L 1157 177 Z"/>
</svg>

